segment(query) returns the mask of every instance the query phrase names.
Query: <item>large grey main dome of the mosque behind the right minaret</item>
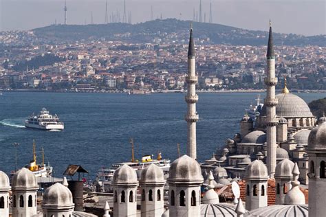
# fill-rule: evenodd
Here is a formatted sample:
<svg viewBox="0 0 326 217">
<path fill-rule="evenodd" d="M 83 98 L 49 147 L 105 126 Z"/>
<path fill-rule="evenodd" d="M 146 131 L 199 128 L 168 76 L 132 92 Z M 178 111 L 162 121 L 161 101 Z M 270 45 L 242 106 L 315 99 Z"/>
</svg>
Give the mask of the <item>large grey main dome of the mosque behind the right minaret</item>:
<svg viewBox="0 0 326 217">
<path fill-rule="evenodd" d="M 276 95 L 279 103 L 276 105 L 276 115 L 279 117 L 312 117 L 307 103 L 292 93 Z M 266 106 L 263 106 L 261 116 L 266 116 Z"/>
</svg>

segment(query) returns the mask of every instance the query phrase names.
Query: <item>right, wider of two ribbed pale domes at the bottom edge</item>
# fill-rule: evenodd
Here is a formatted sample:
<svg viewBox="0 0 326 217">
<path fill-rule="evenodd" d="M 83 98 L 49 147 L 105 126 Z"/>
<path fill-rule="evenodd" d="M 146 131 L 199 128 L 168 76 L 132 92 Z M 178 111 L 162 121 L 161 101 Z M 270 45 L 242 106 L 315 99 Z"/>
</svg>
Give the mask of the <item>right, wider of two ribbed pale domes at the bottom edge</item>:
<svg viewBox="0 0 326 217">
<path fill-rule="evenodd" d="M 306 217 L 308 214 L 308 205 L 272 205 L 254 209 L 244 216 L 284 216 L 284 217 Z"/>
</svg>

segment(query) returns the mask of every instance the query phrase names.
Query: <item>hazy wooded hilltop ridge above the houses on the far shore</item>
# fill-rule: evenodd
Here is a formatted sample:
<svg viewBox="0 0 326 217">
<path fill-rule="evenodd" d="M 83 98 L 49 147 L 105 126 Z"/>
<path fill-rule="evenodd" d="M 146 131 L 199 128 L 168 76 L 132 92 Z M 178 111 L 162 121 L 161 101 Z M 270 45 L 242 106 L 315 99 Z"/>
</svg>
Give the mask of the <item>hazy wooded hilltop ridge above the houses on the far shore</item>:
<svg viewBox="0 0 326 217">
<path fill-rule="evenodd" d="M 156 19 L 145 23 L 108 23 L 95 25 L 50 25 L 34 29 L 38 38 L 47 42 L 65 43 L 105 38 L 111 41 L 129 43 L 151 43 L 154 38 L 164 38 L 176 34 L 180 38 L 188 36 L 190 21 L 177 19 Z M 268 32 L 243 30 L 237 27 L 215 23 L 193 22 L 194 36 L 199 39 L 210 38 L 210 43 L 226 45 L 266 45 Z M 274 33 L 275 45 L 326 47 L 326 36 L 301 36 L 297 34 Z"/>
</svg>

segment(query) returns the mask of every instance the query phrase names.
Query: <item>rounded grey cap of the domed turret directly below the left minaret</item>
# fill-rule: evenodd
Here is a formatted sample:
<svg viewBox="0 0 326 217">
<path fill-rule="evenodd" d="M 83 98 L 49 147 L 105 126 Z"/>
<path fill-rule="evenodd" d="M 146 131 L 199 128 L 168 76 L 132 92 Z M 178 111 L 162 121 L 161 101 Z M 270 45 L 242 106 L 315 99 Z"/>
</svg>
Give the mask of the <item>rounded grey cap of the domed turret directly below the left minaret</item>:
<svg viewBox="0 0 326 217">
<path fill-rule="evenodd" d="M 195 159 L 184 155 L 171 164 L 168 182 L 198 182 L 204 181 L 200 165 Z"/>
</svg>

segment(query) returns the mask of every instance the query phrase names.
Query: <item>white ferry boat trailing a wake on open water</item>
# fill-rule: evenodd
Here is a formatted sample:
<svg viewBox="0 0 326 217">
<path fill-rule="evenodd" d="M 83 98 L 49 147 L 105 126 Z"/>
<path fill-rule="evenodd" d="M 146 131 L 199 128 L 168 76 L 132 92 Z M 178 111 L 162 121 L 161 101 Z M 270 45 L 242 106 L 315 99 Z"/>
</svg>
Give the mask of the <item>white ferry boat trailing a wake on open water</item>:
<svg viewBox="0 0 326 217">
<path fill-rule="evenodd" d="M 50 115 L 49 111 L 43 108 L 39 115 L 33 113 L 25 120 L 25 127 L 56 131 L 63 130 L 64 124 L 59 121 L 58 115 Z"/>
</svg>

